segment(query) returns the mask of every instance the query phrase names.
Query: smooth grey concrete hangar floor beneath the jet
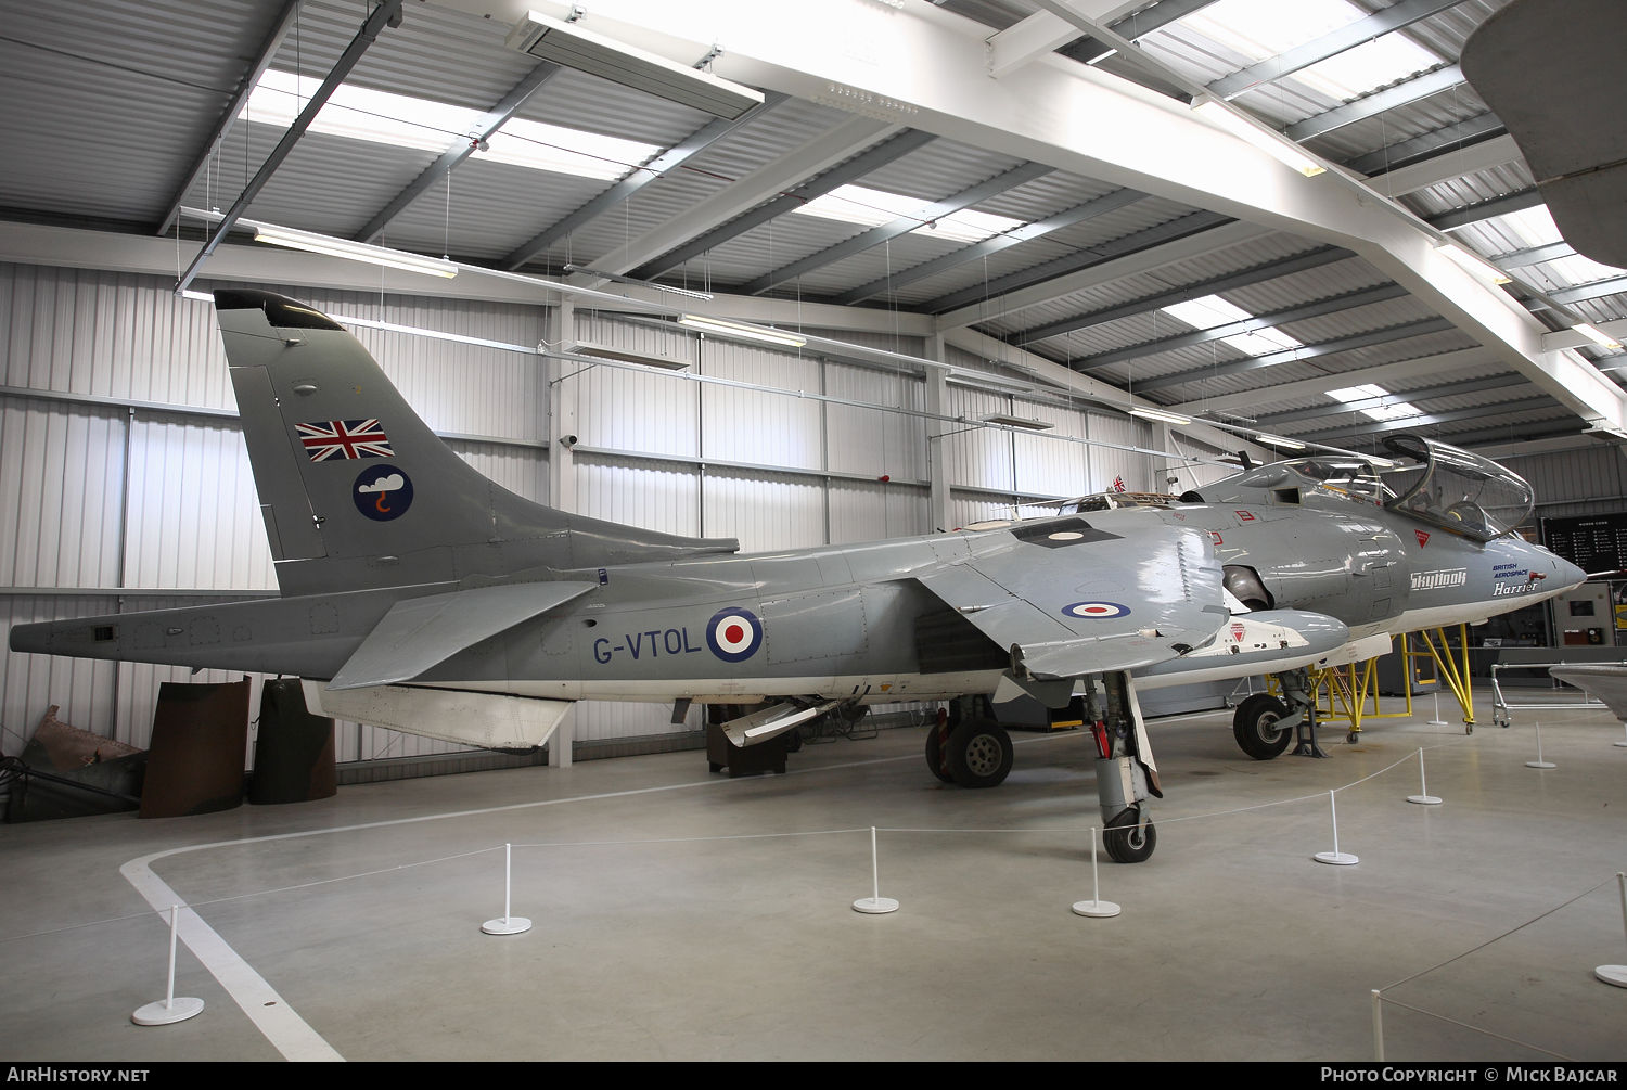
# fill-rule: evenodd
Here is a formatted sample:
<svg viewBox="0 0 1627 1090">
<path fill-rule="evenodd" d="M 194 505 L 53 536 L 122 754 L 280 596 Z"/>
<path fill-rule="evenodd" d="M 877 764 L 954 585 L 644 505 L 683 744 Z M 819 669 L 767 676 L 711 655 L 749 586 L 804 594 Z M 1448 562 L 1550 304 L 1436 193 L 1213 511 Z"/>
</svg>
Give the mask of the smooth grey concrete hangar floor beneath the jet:
<svg viewBox="0 0 1627 1090">
<path fill-rule="evenodd" d="M 1101 895 L 1124 906 L 1108 921 L 1069 911 L 1090 896 L 1085 835 L 1015 831 L 1097 820 L 1079 734 L 1017 735 L 1017 768 L 996 791 L 937 784 L 923 732 L 900 729 L 807 747 L 781 778 L 709 776 L 704 755 L 685 752 L 197 818 L 0 826 L 0 1057 L 278 1059 L 185 948 L 177 994 L 205 1012 L 130 1023 L 163 996 L 166 927 L 119 867 L 332 830 L 153 869 L 353 1061 L 1368 1059 L 1372 988 L 1627 865 L 1627 748 L 1611 745 L 1622 729 L 1599 713 L 1542 714 L 1551 771 L 1524 766 L 1528 716 L 1468 739 L 1429 716 L 1378 721 L 1357 745 L 1329 732 L 1331 760 L 1271 763 L 1238 752 L 1228 716 L 1155 724 L 1158 849 L 1139 865 L 1103 862 Z M 1438 743 L 1429 786 L 1443 805 L 1404 802 L 1415 761 L 1339 794 L 1355 867 L 1310 859 L 1331 848 L 1324 794 L 1171 820 L 1326 792 Z M 516 849 L 514 913 L 535 927 L 504 939 L 478 931 L 501 913 L 501 851 L 394 869 L 504 841 L 869 825 L 999 831 L 883 831 L 882 893 L 903 908 L 879 918 L 849 908 L 870 893 L 867 831 Z M 1614 880 L 1389 994 L 1619 1061 L 1627 991 L 1596 983 L 1598 963 L 1627 963 Z M 1542 1059 L 1398 1007 L 1385 1028 L 1393 1061 Z"/>
</svg>

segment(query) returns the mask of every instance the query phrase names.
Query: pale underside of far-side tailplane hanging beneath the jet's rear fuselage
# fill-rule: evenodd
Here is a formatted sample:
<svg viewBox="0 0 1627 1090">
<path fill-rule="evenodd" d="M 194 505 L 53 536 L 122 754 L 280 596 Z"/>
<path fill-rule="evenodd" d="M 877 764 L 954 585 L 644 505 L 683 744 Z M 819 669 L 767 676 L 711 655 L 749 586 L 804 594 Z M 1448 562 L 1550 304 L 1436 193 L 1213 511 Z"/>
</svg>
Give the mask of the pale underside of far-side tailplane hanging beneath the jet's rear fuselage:
<svg viewBox="0 0 1627 1090">
<path fill-rule="evenodd" d="M 488 750 L 537 748 L 547 743 L 571 709 L 568 700 L 408 685 L 335 693 L 322 688 L 321 682 L 304 682 L 304 691 L 306 708 L 322 716 Z"/>
</svg>

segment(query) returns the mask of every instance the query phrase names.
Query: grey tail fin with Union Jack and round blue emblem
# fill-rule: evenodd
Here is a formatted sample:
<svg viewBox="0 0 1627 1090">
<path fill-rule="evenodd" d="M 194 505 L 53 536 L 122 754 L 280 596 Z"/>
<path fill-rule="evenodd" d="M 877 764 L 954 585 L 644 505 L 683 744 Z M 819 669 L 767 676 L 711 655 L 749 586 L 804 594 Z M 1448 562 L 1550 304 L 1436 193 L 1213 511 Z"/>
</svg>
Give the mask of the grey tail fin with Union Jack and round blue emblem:
<svg viewBox="0 0 1627 1090">
<path fill-rule="evenodd" d="M 430 429 L 355 337 L 296 299 L 223 290 L 215 312 L 283 594 L 739 548 L 566 514 L 501 488 Z"/>
</svg>

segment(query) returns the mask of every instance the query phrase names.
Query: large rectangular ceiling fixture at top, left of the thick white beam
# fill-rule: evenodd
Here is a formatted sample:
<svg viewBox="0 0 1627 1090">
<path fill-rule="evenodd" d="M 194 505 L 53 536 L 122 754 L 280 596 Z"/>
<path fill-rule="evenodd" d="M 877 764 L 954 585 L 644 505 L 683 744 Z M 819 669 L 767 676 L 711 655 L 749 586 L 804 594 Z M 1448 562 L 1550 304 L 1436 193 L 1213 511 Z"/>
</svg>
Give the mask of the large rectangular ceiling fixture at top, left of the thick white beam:
<svg viewBox="0 0 1627 1090">
<path fill-rule="evenodd" d="M 761 91 L 594 34 L 576 23 L 561 23 L 542 11 L 530 11 L 516 23 L 503 44 L 729 120 L 763 104 Z"/>
</svg>

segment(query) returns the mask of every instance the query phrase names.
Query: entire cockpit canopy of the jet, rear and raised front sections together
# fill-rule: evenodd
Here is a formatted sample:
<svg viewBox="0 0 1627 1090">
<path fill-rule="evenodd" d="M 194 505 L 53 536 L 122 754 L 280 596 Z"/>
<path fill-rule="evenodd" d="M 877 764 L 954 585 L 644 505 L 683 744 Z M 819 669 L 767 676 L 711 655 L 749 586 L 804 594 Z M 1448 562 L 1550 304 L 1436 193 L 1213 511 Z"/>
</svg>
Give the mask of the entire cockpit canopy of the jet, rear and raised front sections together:
<svg viewBox="0 0 1627 1090">
<path fill-rule="evenodd" d="M 1531 485 L 1497 462 L 1417 434 L 1385 439 L 1393 459 L 1318 454 L 1259 465 L 1204 486 L 1204 499 L 1240 488 L 1334 493 L 1376 503 L 1455 534 L 1489 542 L 1529 517 Z"/>
</svg>

